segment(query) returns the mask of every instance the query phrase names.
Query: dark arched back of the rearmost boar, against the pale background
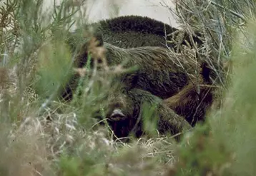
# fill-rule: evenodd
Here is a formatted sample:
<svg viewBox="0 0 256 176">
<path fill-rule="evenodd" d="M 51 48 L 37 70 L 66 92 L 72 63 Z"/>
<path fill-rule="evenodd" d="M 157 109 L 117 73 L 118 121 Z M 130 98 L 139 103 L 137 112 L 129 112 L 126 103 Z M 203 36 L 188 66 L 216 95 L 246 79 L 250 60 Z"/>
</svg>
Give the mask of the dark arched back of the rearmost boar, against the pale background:
<svg viewBox="0 0 256 176">
<path fill-rule="evenodd" d="M 93 27 L 94 34 L 102 35 L 104 42 L 121 48 L 168 46 L 177 51 L 177 44 L 188 46 L 187 43 L 193 45 L 194 41 L 202 45 L 200 33 L 195 32 L 191 40 L 188 33 L 146 16 L 119 16 L 83 26 L 84 29 L 89 27 Z M 79 30 L 83 29 L 75 33 Z"/>
</svg>

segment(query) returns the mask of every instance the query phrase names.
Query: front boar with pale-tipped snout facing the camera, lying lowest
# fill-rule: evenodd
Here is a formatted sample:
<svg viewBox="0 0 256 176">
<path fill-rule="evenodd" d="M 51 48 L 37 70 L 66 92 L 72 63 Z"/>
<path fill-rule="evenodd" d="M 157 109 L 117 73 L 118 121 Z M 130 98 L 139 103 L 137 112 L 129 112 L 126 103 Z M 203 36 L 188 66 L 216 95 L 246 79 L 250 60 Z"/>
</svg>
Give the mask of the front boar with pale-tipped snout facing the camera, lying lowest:
<svg viewBox="0 0 256 176">
<path fill-rule="evenodd" d="M 124 138 L 130 133 L 139 138 L 146 134 L 142 128 L 142 104 L 148 103 L 148 108 L 154 105 L 154 118 L 157 118 L 159 133 L 175 135 L 191 127 L 184 118 L 162 103 L 162 99 L 151 93 L 134 88 L 128 90 L 122 86 L 113 86 L 107 95 L 106 118 L 117 138 Z M 147 110 L 148 110 L 147 108 Z M 180 135 L 177 135 L 179 139 Z"/>
</svg>

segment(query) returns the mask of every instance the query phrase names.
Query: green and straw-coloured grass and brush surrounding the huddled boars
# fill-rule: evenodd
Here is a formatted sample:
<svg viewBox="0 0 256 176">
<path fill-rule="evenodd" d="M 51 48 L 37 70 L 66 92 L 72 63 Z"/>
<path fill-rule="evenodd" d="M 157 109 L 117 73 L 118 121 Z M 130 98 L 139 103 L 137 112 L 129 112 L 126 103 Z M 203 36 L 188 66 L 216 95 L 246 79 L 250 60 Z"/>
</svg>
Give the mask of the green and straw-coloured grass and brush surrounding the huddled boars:
<svg viewBox="0 0 256 176">
<path fill-rule="evenodd" d="M 82 16 L 73 18 L 79 6 L 68 2 L 47 16 L 40 2 L 9 0 L 0 11 L 0 175 L 255 175 L 254 1 L 179 1 L 184 29 L 205 34 L 198 52 L 232 69 L 227 83 L 219 76 L 221 108 L 178 144 L 168 137 L 122 143 L 107 127 L 94 129 L 106 72 L 91 69 L 82 100 L 58 99 L 72 71 L 65 36 Z"/>
</svg>

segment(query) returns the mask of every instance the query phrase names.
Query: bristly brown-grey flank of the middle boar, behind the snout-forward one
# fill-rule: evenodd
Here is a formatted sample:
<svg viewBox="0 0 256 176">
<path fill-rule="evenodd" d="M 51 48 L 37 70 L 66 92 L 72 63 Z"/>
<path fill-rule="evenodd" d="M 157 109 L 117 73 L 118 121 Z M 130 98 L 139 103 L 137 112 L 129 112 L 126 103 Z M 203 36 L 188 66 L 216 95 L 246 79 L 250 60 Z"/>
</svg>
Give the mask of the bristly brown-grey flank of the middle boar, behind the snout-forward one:
<svg viewBox="0 0 256 176">
<path fill-rule="evenodd" d="M 195 69 L 200 65 L 187 58 L 175 57 L 166 48 L 145 46 L 139 48 L 119 48 L 105 43 L 106 58 L 109 66 L 124 63 L 124 68 L 137 66 L 137 71 L 119 76 L 127 88 L 147 90 L 160 98 L 169 98 L 178 93 L 195 78 Z M 81 53 L 77 62 L 84 66 L 87 53 Z M 194 75 L 193 75 L 194 74 Z"/>
</svg>

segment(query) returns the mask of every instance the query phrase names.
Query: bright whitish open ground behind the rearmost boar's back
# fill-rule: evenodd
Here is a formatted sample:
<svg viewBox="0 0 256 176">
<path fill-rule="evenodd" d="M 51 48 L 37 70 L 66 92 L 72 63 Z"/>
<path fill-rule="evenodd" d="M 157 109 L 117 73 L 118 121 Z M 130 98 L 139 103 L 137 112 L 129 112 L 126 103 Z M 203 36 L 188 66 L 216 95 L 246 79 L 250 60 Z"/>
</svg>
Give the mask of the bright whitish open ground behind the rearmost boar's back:
<svg viewBox="0 0 256 176">
<path fill-rule="evenodd" d="M 79 1 L 79 0 L 74 0 Z M 81 1 L 81 0 L 80 0 Z M 174 0 L 85 0 L 81 10 L 89 22 L 111 19 L 117 16 L 138 15 L 179 28 L 174 14 Z M 56 0 L 59 5 L 61 0 Z M 44 0 L 44 10 L 53 8 L 53 0 Z M 170 9 L 168 9 L 168 7 Z M 87 9 L 87 11 L 85 10 Z"/>
</svg>

